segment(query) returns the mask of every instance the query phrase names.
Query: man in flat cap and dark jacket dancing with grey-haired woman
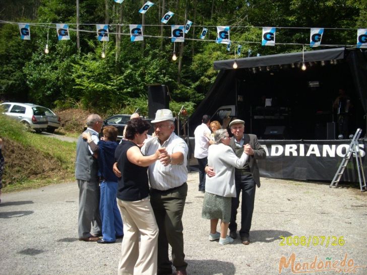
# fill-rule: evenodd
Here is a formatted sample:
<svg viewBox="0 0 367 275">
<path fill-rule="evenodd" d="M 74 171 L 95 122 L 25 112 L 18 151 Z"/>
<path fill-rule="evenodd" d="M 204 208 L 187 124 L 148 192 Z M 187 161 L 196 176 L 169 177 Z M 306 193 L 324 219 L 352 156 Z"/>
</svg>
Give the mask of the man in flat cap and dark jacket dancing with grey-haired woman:
<svg viewBox="0 0 367 275">
<path fill-rule="evenodd" d="M 231 220 L 229 223 L 229 236 L 237 238 L 236 216 L 239 206 L 239 195 L 242 191 L 241 204 L 241 227 L 239 236 L 243 244 L 250 244 L 250 229 L 252 215 L 254 212 L 256 185 L 260 187 L 260 173 L 257 164 L 258 159 L 264 159 L 266 152 L 261 147 L 258 137 L 255 134 L 244 133 L 244 121 L 240 119 L 232 120 L 229 123 L 233 136 L 229 146 L 233 149 L 237 157 L 244 151 L 249 155 L 248 161 L 240 169 L 235 168 L 236 197 L 232 198 Z M 244 145 L 244 147 L 243 147 Z M 208 176 L 215 175 L 211 167 L 206 167 Z"/>
</svg>

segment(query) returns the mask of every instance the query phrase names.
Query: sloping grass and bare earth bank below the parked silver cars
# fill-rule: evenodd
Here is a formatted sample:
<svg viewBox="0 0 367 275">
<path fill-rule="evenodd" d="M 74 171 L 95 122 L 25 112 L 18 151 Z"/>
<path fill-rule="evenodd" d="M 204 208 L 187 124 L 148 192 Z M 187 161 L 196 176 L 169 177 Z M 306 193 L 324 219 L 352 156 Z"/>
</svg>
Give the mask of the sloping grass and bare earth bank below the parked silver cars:
<svg viewBox="0 0 367 275">
<path fill-rule="evenodd" d="M 29 132 L 3 114 L 0 125 L 4 140 L 4 192 L 74 180 L 75 143 Z"/>
</svg>

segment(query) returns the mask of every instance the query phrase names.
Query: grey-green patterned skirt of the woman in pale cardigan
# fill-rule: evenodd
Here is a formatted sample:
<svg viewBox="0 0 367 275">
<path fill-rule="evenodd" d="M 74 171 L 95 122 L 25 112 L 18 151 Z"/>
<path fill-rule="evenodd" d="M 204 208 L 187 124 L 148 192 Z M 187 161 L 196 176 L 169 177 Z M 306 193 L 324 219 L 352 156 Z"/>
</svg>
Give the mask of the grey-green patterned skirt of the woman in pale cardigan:
<svg viewBox="0 0 367 275">
<path fill-rule="evenodd" d="M 231 219 L 231 204 L 231 197 L 205 192 L 201 217 L 208 220 L 221 219 L 224 223 L 229 223 Z"/>
</svg>

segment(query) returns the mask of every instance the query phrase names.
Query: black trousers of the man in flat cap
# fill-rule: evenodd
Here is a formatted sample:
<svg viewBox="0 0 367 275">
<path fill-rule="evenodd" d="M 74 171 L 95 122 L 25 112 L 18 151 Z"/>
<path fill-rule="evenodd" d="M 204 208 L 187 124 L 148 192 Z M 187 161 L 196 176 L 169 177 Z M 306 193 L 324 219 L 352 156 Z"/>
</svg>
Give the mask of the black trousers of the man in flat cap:
<svg viewBox="0 0 367 275">
<path fill-rule="evenodd" d="M 231 220 L 229 223 L 229 230 L 237 230 L 236 216 L 239 206 L 239 196 L 242 191 L 241 228 L 239 230 L 239 235 L 241 237 L 250 237 L 251 221 L 254 212 L 256 183 L 252 175 L 236 175 L 235 185 L 237 196 L 232 197 Z"/>
</svg>

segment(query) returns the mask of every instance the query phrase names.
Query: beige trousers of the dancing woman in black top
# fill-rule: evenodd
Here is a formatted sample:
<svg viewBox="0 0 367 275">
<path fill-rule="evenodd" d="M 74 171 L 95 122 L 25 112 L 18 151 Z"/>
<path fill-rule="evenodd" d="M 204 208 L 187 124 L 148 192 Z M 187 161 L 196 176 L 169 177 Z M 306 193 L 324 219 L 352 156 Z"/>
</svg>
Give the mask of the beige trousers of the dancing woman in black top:
<svg viewBox="0 0 367 275">
<path fill-rule="evenodd" d="M 157 274 L 159 230 L 149 197 L 137 201 L 117 198 L 117 205 L 124 223 L 118 275 Z"/>
</svg>

